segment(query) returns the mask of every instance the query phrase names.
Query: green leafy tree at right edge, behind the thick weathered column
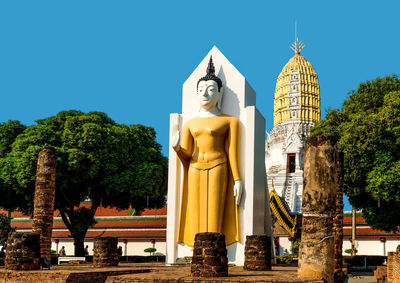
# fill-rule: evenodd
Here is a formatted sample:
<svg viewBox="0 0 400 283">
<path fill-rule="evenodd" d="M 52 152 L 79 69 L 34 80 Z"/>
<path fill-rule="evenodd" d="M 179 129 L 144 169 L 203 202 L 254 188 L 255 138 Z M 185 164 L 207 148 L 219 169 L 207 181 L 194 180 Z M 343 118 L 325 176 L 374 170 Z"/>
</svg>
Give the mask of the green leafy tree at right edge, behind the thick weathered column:
<svg viewBox="0 0 400 283">
<path fill-rule="evenodd" d="M 332 135 L 344 153 L 344 193 L 373 228 L 400 226 L 400 80 L 361 83 L 340 110 L 311 130 Z"/>
</svg>

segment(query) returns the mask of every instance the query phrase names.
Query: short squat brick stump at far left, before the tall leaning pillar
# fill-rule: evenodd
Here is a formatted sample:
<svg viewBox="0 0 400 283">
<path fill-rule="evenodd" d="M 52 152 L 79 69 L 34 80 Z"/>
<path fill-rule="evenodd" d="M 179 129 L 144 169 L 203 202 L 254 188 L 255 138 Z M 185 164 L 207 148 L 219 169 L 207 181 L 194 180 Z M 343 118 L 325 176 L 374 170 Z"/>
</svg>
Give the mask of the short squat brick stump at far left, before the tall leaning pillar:
<svg viewBox="0 0 400 283">
<path fill-rule="evenodd" d="M 7 239 L 5 268 L 40 269 L 40 235 L 30 232 L 11 232 Z"/>
</svg>

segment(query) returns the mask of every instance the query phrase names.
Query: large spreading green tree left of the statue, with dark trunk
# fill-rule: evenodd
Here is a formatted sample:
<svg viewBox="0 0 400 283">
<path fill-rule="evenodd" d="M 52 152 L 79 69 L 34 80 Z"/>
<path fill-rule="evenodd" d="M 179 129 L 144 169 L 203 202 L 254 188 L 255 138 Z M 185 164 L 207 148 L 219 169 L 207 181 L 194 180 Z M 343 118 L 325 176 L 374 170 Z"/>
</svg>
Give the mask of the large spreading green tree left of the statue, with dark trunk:
<svg viewBox="0 0 400 283">
<path fill-rule="evenodd" d="M 36 122 L 0 161 L 0 178 L 21 198 L 14 208 L 32 212 L 39 151 L 45 144 L 56 148 L 55 208 L 74 239 L 76 256 L 84 255 L 83 241 L 100 205 L 140 211 L 165 204 L 167 160 L 153 128 L 75 110 Z M 90 203 L 79 207 L 85 200 Z"/>
</svg>

